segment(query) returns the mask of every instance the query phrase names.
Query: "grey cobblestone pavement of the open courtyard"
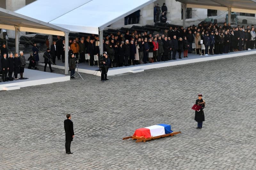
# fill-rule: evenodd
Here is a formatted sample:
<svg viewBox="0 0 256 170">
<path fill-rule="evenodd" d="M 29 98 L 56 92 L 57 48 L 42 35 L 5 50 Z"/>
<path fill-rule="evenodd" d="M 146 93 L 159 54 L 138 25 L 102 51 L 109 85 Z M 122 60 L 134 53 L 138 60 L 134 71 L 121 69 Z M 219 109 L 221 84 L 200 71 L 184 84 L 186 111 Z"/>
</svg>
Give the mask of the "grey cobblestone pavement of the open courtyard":
<svg viewBox="0 0 256 170">
<path fill-rule="evenodd" d="M 1 91 L 0 169 L 255 169 L 255 65 L 249 55 Z M 190 109 L 199 92 L 203 129 Z M 182 133 L 122 140 L 158 123 Z"/>
</svg>

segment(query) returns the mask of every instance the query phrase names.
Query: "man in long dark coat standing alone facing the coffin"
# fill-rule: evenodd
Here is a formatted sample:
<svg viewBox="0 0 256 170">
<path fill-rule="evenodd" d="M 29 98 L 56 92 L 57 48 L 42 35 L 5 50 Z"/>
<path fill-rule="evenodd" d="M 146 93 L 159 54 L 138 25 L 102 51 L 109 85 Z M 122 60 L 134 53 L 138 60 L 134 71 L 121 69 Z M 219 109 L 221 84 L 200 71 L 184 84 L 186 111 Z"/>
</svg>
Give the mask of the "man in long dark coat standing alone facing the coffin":
<svg viewBox="0 0 256 170">
<path fill-rule="evenodd" d="M 73 152 L 70 151 L 70 145 L 71 141 L 73 141 L 74 138 L 74 129 L 73 129 L 73 122 L 71 121 L 71 115 L 67 114 L 67 119 L 64 121 L 64 129 L 65 129 L 65 134 L 66 134 L 66 143 L 65 143 L 65 148 L 66 148 L 66 153 L 67 154 L 72 154 Z"/>
</svg>

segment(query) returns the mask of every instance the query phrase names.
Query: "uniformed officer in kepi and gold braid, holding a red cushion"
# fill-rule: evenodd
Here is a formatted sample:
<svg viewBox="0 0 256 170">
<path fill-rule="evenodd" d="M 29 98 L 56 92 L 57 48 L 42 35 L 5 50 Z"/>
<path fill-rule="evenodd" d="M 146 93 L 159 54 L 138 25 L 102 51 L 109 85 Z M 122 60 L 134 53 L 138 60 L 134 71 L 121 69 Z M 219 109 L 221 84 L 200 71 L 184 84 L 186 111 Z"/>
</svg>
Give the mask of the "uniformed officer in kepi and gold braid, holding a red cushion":
<svg viewBox="0 0 256 170">
<path fill-rule="evenodd" d="M 201 106 L 201 109 L 199 111 L 195 111 L 195 121 L 197 122 L 197 128 L 196 129 L 202 129 L 203 121 L 204 121 L 204 106 L 205 101 L 202 99 L 203 95 L 198 94 L 198 99 L 196 100 L 196 105 Z"/>
</svg>

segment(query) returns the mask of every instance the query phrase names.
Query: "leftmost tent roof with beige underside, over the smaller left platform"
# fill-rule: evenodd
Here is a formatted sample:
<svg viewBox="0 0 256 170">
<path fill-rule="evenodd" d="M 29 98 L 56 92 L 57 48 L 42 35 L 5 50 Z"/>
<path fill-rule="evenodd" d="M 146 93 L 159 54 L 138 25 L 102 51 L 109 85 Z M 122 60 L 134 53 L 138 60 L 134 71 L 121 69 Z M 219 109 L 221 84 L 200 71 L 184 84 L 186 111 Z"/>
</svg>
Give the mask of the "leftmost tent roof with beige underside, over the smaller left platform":
<svg viewBox="0 0 256 170">
<path fill-rule="evenodd" d="M 20 31 L 64 35 L 69 30 L 0 8 L 0 28 Z"/>
</svg>

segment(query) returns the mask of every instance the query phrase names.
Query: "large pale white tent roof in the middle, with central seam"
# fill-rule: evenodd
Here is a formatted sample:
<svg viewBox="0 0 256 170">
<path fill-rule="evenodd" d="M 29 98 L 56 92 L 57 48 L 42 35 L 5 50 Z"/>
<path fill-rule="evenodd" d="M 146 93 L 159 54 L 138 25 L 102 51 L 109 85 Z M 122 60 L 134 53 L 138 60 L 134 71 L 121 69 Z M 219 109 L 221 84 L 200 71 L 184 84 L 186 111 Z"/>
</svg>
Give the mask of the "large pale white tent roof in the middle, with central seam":
<svg viewBox="0 0 256 170">
<path fill-rule="evenodd" d="M 99 29 L 155 1 L 76 0 L 70 3 L 70 0 L 37 0 L 15 12 L 72 32 L 99 34 Z"/>
</svg>

